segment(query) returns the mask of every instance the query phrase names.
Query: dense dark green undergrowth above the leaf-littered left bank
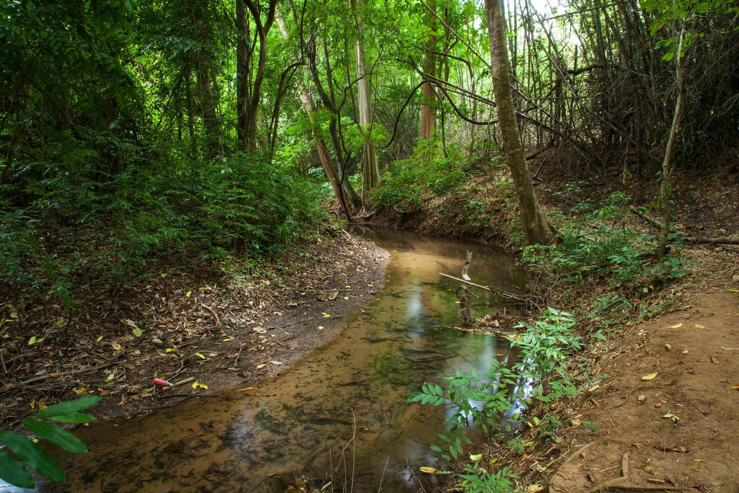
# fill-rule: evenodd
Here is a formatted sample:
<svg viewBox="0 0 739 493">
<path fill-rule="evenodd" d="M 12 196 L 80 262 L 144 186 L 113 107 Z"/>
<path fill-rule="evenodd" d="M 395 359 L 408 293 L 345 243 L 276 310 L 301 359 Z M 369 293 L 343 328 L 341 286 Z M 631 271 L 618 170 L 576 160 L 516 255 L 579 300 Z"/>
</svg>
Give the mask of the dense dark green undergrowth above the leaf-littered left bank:
<svg viewBox="0 0 739 493">
<path fill-rule="evenodd" d="M 319 186 L 248 154 L 105 177 L 72 171 L 4 190 L 16 198 L 0 203 L 0 273 L 21 304 L 73 309 L 91 282 L 136 282 L 163 257 L 276 252 L 324 214 Z"/>
</svg>

